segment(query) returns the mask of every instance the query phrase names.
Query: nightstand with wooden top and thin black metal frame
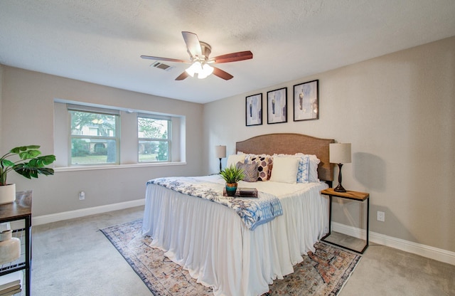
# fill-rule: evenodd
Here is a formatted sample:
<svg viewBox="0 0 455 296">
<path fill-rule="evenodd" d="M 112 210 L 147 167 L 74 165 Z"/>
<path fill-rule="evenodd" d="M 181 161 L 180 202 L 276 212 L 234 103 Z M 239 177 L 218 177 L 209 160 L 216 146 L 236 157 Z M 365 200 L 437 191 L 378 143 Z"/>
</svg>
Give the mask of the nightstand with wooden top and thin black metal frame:
<svg viewBox="0 0 455 296">
<path fill-rule="evenodd" d="M 324 189 L 323 191 L 321 191 L 321 194 L 325 194 L 325 195 L 328 195 L 329 199 L 330 199 L 330 202 L 329 202 L 329 214 L 328 214 L 328 233 L 326 234 L 326 236 L 324 236 L 323 238 L 321 238 L 322 241 L 325 241 L 326 243 L 331 243 L 332 245 L 338 245 L 338 247 L 341 247 L 341 248 L 346 248 L 348 250 L 352 250 L 356 253 L 360 253 L 360 254 L 363 254 L 363 252 L 365 252 L 366 248 L 368 248 L 368 232 L 370 231 L 370 194 L 367 194 L 365 192 L 358 192 L 358 191 L 346 191 L 346 192 L 337 192 L 335 190 L 333 190 L 333 188 L 328 188 L 328 189 Z M 355 250 L 353 248 L 348 248 L 344 245 L 341 245 L 341 244 L 338 244 L 338 243 L 333 243 L 333 241 L 329 241 L 327 240 L 327 238 L 331 235 L 332 231 L 331 231 L 331 224 L 332 224 L 332 200 L 333 200 L 333 196 L 335 196 L 336 198 L 339 198 L 339 199 L 349 199 L 351 201 L 359 201 L 359 202 L 365 202 L 367 203 L 367 229 L 366 229 L 366 235 L 367 235 L 367 238 L 366 238 L 366 243 L 365 243 L 365 246 L 362 248 L 362 250 Z"/>
</svg>

